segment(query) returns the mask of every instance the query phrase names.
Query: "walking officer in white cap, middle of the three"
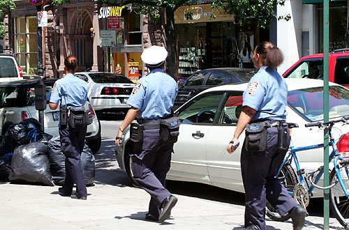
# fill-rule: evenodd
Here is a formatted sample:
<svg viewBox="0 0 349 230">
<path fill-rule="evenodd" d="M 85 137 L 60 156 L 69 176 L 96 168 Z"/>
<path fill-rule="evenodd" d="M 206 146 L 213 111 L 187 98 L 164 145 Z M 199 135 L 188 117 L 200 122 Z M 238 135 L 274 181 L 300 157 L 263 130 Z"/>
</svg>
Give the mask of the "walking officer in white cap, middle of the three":
<svg viewBox="0 0 349 230">
<path fill-rule="evenodd" d="M 143 132 L 140 134 L 141 146 L 135 144 L 131 155 L 131 170 L 138 185 L 151 196 L 145 219 L 159 222 L 170 217 L 171 209 L 177 203 L 177 197 L 165 189 L 173 143 L 162 141 L 160 135 L 160 122 L 172 116 L 178 91 L 177 82 L 163 70 L 167 56 L 165 47 L 154 45 L 144 49 L 141 59 L 149 69 L 149 74 L 138 80 L 128 98 L 131 109 L 121 123 L 115 141 L 115 144 L 121 145 L 122 132 L 137 118 Z"/>
</svg>

